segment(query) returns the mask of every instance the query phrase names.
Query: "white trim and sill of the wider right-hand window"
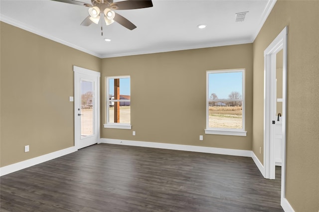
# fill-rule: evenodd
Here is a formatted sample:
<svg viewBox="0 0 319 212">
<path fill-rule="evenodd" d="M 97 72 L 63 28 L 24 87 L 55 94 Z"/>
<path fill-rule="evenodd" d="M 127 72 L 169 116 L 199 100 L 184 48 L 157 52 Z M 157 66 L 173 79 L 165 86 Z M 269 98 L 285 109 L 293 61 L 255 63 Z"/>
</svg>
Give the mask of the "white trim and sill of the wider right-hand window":
<svg viewBox="0 0 319 212">
<path fill-rule="evenodd" d="M 243 82 L 242 82 L 242 99 L 239 100 L 242 102 L 242 129 L 229 129 L 229 128 L 211 128 L 209 126 L 209 115 L 208 115 L 208 102 L 217 102 L 221 100 L 211 101 L 209 100 L 208 93 L 208 83 L 209 83 L 209 74 L 214 73 L 232 73 L 232 72 L 242 72 Z M 229 69 L 229 70 L 210 70 L 206 71 L 206 129 L 205 134 L 214 134 L 214 135 L 235 135 L 235 136 L 246 136 L 247 131 L 245 131 L 245 69 Z M 228 101 L 228 100 L 227 100 Z M 231 102 L 231 101 L 230 101 Z"/>
</svg>

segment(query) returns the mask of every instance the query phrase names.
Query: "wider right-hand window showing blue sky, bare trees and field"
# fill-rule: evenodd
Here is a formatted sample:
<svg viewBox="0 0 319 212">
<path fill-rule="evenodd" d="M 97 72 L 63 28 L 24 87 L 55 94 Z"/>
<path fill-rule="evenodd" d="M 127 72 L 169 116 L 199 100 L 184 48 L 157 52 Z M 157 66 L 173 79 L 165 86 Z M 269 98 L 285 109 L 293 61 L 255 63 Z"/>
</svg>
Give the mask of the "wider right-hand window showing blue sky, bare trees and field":
<svg viewBox="0 0 319 212">
<path fill-rule="evenodd" d="M 245 70 L 206 72 L 205 134 L 246 136 Z"/>
</svg>

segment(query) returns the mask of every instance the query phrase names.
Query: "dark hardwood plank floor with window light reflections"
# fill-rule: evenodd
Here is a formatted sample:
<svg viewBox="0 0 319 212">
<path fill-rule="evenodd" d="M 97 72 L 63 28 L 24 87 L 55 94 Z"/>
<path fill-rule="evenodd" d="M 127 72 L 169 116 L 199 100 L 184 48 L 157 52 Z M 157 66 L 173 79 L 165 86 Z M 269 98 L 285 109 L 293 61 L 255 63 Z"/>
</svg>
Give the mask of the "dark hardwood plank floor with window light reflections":
<svg viewBox="0 0 319 212">
<path fill-rule="evenodd" d="M 96 144 L 0 178 L 1 212 L 282 212 L 280 167 L 251 158 Z"/>
</svg>

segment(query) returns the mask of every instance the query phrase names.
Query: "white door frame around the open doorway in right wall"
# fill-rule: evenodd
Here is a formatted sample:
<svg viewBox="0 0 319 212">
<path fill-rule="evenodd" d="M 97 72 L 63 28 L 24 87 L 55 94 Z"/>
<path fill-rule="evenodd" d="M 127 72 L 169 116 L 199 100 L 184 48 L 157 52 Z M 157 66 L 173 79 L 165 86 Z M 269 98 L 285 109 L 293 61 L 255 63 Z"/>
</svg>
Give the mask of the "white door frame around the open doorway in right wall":
<svg viewBox="0 0 319 212">
<path fill-rule="evenodd" d="M 264 173 L 265 178 L 275 179 L 274 140 L 271 139 L 271 125 L 274 104 L 271 104 L 276 86 L 276 54 L 283 50 L 283 111 L 282 111 L 282 167 L 281 167 L 281 200 L 286 191 L 286 131 L 287 131 L 287 37 L 286 26 L 264 51 Z M 275 76 L 274 76 L 275 75 Z"/>
</svg>

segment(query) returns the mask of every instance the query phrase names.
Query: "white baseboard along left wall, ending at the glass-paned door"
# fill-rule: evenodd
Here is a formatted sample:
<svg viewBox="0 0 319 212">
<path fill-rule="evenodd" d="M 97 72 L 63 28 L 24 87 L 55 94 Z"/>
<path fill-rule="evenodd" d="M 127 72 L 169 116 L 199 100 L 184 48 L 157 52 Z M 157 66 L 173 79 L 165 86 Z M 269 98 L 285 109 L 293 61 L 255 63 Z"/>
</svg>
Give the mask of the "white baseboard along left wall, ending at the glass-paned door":
<svg viewBox="0 0 319 212">
<path fill-rule="evenodd" d="M 41 155 L 41 156 L 38 156 L 35 158 L 31 158 L 31 159 L 28 159 L 25 161 L 14 163 L 14 164 L 11 164 L 8 166 L 3 166 L 0 168 L 0 176 L 7 175 L 7 174 L 10 174 L 12 172 L 16 172 L 16 171 L 19 171 L 21 169 L 28 168 L 30 166 L 34 166 L 34 165 L 43 163 L 43 162 L 46 162 L 48 160 L 52 160 L 54 158 L 58 158 L 58 157 L 61 157 L 63 155 L 67 155 L 67 154 L 70 154 L 70 153 L 75 152 L 75 151 L 77 151 L 77 148 L 75 146 L 72 146 L 72 147 L 69 147 L 66 149 L 61 149 L 61 150 L 58 150 L 55 152 L 51 152 L 51 153 Z"/>
</svg>

